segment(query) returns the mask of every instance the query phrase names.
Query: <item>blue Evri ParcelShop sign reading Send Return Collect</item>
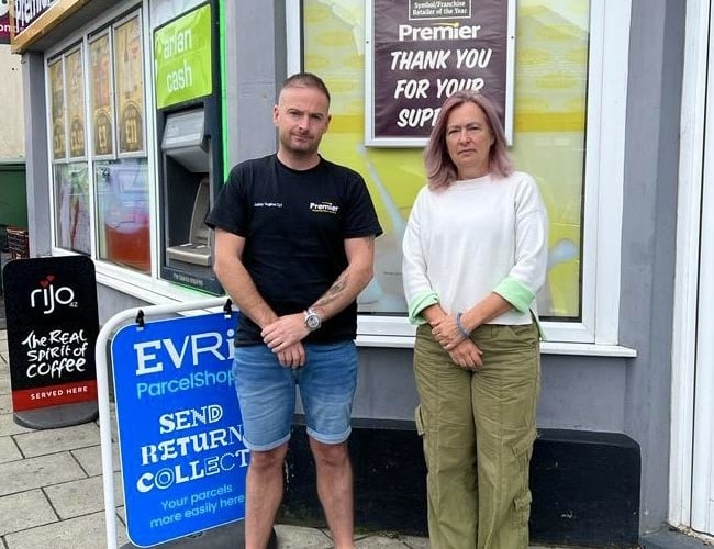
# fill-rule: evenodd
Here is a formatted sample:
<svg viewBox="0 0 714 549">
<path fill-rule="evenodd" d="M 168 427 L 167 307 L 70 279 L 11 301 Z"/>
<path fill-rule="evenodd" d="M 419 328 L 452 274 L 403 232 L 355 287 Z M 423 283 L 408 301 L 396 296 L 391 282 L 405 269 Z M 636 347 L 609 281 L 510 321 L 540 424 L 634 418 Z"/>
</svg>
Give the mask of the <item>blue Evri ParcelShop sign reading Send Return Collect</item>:
<svg viewBox="0 0 714 549">
<path fill-rule="evenodd" d="M 140 547 L 245 516 L 236 322 L 237 313 L 170 318 L 112 339 L 126 529 Z"/>
</svg>

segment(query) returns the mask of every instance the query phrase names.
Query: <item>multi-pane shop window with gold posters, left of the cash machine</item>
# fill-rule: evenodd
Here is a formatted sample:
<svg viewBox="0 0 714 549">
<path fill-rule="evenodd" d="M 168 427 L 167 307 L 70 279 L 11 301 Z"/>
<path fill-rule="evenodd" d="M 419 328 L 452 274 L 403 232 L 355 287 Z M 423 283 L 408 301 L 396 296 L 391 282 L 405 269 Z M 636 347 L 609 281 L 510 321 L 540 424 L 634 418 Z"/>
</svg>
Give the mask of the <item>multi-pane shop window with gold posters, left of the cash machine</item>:
<svg viewBox="0 0 714 549">
<path fill-rule="evenodd" d="M 140 13 L 52 56 L 47 80 L 55 245 L 150 272 Z"/>
</svg>

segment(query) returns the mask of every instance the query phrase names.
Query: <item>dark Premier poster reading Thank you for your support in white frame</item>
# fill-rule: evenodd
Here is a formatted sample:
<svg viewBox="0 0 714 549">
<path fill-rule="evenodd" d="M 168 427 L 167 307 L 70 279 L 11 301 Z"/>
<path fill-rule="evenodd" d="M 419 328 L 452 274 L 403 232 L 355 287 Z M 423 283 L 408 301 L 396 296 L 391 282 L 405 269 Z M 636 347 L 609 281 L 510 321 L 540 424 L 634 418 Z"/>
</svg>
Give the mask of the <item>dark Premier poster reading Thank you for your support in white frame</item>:
<svg viewBox="0 0 714 549">
<path fill-rule="evenodd" d="M 368 145 L 424 145 L 444 100 L 464 89 L 495 103 L 511 141 L 513 0 L 368 3 Z"/>
</svg>

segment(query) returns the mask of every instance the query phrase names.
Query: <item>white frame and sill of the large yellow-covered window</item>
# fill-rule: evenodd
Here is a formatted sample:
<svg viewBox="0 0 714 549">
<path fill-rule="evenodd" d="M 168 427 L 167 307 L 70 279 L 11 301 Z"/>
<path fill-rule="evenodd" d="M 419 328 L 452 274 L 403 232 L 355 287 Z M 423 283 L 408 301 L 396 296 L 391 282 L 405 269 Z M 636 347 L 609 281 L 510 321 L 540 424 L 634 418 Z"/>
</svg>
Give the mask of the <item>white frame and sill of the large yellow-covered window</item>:
<svg viewBox="0 0 714 549">
<path fill-rule="evenodd" d="M 302 2 L 286 8 L 287 72 L 302 69 Z M 581 320 L 544 322 L 545 352 L 633 357 L 618 346 L 627 63 L 632 0 L 590 2 Z M 517 40 L 517 37 L 516 37 Z M 606 216 L 605 216 L 606 214 Z M 360 314 L 358 343 L 411 347 L 406 316 Z"/>
</svg>

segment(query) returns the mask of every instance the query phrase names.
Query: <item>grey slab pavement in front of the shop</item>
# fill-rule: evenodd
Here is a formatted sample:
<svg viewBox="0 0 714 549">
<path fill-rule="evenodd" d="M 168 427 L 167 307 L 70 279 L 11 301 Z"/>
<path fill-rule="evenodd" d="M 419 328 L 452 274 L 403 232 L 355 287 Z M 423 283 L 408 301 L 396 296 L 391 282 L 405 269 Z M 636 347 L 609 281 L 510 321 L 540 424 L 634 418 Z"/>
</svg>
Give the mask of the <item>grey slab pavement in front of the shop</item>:
<svg viewBox="0 0 714 549">
<path fill-rule="evenodd" d="M 99 422 L 43 430 L 15 424 L 9 362 L 7 332 L 0 330 L 0 549 L 105 547 Z M 116 456 L 114 463 L 119 469 Z M 118 546 L 122 547 L 129 539 L 119 471 L 114 485 L 120 504 Z M 320 528 L 277 525 L 276 534 L 280 549 L 333 547 L 328 533 Z M 357 536 L 355 547 L 427 549 L 429 545 L 426 538 L 379 533 Z"/>
</svg>

